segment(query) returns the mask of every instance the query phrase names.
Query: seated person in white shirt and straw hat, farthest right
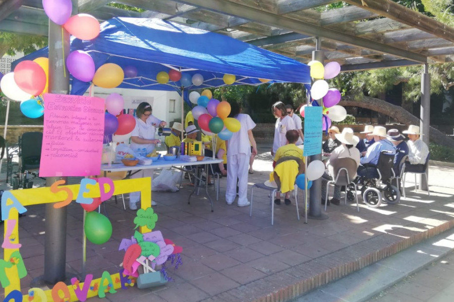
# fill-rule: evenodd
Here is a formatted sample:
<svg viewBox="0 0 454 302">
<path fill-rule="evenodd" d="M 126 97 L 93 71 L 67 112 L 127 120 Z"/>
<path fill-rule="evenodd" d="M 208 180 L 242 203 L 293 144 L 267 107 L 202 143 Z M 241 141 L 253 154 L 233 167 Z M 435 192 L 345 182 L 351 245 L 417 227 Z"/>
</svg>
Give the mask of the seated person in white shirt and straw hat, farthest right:
<svg viewBox="0 0 454 302">
<path fill-rule="evenodd" d="M 402 131 L 408 135 L 409 141 L 409 154 L 408 164 L 405 166 L 407 172 L 424 172 L 424 164 L 426 163 L 427 156 L 429 155 L 429 147 L 420 139 L 422 135 L 419 132 L 419 127 L 410 125 L 408 130 Z"/>
</svg>

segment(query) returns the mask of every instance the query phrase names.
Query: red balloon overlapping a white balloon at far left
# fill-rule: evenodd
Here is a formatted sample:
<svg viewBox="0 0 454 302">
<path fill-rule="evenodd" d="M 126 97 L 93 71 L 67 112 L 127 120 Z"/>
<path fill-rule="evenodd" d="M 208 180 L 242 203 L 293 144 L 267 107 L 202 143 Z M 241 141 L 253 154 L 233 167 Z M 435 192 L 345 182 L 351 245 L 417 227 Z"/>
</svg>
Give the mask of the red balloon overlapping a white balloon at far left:
<svg viewBox="0 0 454 302">
<path fill-rule="evenodd" d="M 14 68 L 14 81 L 26 93 L 37 96 L 46 87 L 47 77 L 44 69 L 38 63 L 25 60 Z"/>
</svg>

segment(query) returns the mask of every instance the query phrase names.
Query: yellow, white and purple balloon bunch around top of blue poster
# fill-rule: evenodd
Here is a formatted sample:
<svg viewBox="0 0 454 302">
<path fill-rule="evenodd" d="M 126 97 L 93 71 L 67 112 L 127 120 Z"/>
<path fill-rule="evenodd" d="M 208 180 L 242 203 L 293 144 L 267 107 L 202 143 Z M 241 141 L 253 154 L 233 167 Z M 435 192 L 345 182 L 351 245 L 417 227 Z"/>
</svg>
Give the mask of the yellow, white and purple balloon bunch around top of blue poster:
<svg viewBox="0 0 454 302">
<path fill-rule="evenodd" d="M 337 62 L 329 62 L 323 66 L 319 61 L 310 61 L 311 77 L 315 80 L 310 89 L 312 106 L 319 106 L 315 100 L 323 100 L 323 130 L 327 130 L 331 126 L 331 121 L 340 122 L 347 117 L 347 111 L 344 107 L 337 105 L 341 101 L 341 92 L 336 88 L 329 88 L 327 79 L 336 77 L 341 71 L 341 66 Z M 311 106 L 309 105 L 309 106 Z M 304 109 L 308 105 L 304 105 L 300 109 L 301 116 L 304 117 Z"/>
</svg>

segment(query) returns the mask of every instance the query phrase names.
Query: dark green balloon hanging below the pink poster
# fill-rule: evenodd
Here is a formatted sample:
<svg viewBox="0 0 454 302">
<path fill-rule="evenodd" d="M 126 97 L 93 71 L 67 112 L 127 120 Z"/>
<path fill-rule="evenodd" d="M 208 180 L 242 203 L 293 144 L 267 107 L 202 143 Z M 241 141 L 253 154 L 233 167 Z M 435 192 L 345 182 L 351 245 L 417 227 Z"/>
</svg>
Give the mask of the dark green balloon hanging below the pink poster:
<svg viewBox="0 0 454 302">
<path fill-rule="evenodd" d="M 112 223 L 103 214 L 91 211 L 85 217 L 84 231 L 91 243 L 103 244 L 112 236 Z"/>
</svg>

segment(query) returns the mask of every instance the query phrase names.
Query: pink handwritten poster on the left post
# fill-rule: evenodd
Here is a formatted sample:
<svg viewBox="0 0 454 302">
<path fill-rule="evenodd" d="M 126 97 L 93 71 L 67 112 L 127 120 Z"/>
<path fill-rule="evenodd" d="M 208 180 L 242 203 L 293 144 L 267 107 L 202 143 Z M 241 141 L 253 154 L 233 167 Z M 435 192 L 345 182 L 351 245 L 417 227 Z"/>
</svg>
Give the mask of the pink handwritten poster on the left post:
<svg viewBox="0 0 454 302">
<path fill-rule="evenodd" d="M 99 175 L 103 134 L 103 99 L 44 94 L 39 176 Z"/>
</svg>

